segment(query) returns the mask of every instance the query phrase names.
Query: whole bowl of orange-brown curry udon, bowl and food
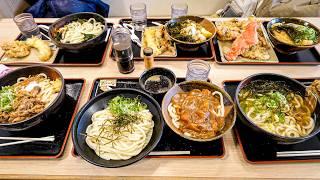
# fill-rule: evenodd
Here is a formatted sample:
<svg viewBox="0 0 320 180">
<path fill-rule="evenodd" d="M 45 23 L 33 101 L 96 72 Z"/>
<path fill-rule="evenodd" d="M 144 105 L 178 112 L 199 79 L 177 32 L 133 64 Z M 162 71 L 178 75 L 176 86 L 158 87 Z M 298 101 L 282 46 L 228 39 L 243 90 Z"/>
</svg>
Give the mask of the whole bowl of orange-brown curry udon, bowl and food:
<svg viewBox="0 0 320 180">
<path fill-rule="evenodd" d="M 163 98 L 162 114 L 176 134 L 198 142 L 221 138 L 236 120 L 235 104 L 229 94 L 204 81 L 173 86 Z"/>
</svg>

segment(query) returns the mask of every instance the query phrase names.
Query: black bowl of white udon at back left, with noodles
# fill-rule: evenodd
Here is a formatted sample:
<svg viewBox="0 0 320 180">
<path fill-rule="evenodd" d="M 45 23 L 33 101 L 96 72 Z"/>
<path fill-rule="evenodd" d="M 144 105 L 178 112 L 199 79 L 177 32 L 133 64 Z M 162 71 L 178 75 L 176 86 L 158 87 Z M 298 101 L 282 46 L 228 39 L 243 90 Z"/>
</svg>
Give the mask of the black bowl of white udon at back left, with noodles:
<svg viewBox="0 0 320 180">
<path fill-rule="evenodd" d="M 70 52 L 92 49 L 104 42 L 106 34 L 107 22 L 104 17 L 91 12 L 64 16 L 49 28 L 51 41 L 58 48 Z"/>
</svg>

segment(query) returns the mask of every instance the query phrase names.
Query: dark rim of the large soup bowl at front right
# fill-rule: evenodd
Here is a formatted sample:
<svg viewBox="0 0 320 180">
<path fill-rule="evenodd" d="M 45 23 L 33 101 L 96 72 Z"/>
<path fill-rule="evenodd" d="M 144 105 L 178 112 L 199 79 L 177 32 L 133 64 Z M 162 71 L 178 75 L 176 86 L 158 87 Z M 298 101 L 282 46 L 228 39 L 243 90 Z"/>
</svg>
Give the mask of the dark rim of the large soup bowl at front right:
<svg viewBox="0 0 320 180">
<path fill-rule="evenodd" d="M 246 113 L 244 113 L 244 111 L 242 110 L 241 106 L 240 106 L 240 102 L 239 102 L 239 92 L 246 86 L 243 86 L 241 87 L 245 82 L 247 82 L 249 79 L 251 78 L 254 78 L 254 77 L 258 77 L 258 76 L 278 76 L 278 77 L 281 77 L 281 78 L 285 78 L 285 79 L 288 79 L 292 82 L 294 82 L 295 84 L 303 87 L 304 89 L 307 89 L 307 87 L 305 85 L 303 85 L 302 83 L 300 83 L 299 81 L 295 80 L 295 79 L 292 79 L 290 77 L 287 77 L 287 76 L 284 76 L 284 75 L 281 75 L 281 74 L 276 74 L 276 73 L 258 73 L 258 74 L 253 74 L 253 75 L 250 75 L 248 77 L 246 77 L 245 79 L 243 79 L 239 85 L 237 86 L 237 89 L 236 89 L 236 93 L 235 93 L 235 101 L 236 101 L 236 105 L 238 107 L 238 109 L 240 110 L 240 113 L 241 115 L 243 115 L 245 117 L 245 120 L 247 122 L 249 122 L 250 126 L 253 126 L 254 128 L 256 129 L 259 129 L 261 130 L 263 133 L 269 135 L 269 136 L 272 136 L 272 137 L 275 137 L 275 138 L 278 138 L 278 139 L 283 139 L 283 140 L 291 140 L 291 141 L 297 141 L 297 142 L 301 142 L 301 141 L 304 141 L 304 140 L 307 140 L 309 138 L 312 138 L 313 136 L 317 135 L 319 132 L 320 132 L 320 128 L 318 128 L 318 130 L 315 130 L 314 132 L 308 134 L 307 136 L 302 136 L 302 137 L 287 137 L 287 136 L 281 136 L 281 135 L 277 135 L 277 134 L 274 134 L 274 133 L 271 133 L 269 131 L 266 131 L 264 130 L 263 128 L 260 128 L 258 125 L 256 125 L 254 122 L 251 121 L 251 119 L 246 115 Z M 250 81 L 252 82 L 252 81 Z M 250 83 L 249 82 L 249 83 Z M 320 100 L 319 100 L 319 97 L 317 95 L 314 94 L 314 92 L 312 92 L 312 95 L 317 99 L 317 102 L 318 104 L 320 105 Z M 315 122 L 317 120 L 314 120 Z"/>
</svg>

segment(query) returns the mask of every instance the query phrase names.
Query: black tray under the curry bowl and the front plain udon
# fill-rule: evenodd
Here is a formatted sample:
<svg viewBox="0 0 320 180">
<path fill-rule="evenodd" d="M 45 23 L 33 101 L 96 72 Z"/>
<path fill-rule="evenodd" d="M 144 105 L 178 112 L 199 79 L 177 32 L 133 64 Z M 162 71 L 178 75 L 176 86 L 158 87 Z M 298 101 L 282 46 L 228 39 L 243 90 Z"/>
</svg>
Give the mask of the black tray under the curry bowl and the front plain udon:
<svg viewBox="0 0 320 180">
<path fill-rule="evenodd" d="M 142 90 L 137 78 L 98 78 L 94 81 L 90 97 L 93 98 L 103 91 L 99 88 L 101 79 L 117 79 L 115 88 L 135 88 Z M 178 78 L 177 82 L 184 81 L 184 78 Z M 162 101 L 156 99 L 161 105 Z M 76 152 L 73 153 L 77 155 Z M 159 144 L 149 154 L 148 157 L 156 158 L 222 158 L 225 154 L 223 138 L 211 142 L 196 142 L 184 139 L 174 133 L 167 125 L 164 126 L 163 134 Z"/>
</svg>

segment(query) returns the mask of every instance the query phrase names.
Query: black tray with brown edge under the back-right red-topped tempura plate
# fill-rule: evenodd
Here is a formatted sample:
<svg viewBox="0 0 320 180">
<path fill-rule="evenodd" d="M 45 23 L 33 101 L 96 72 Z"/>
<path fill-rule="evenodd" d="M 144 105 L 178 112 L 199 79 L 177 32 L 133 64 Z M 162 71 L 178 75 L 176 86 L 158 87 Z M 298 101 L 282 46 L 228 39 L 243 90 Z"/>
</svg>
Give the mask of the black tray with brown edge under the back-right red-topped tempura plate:
<svg viewBox="0 0 320 180">
<path fill-rule="evenodd" d="M 266 28 L 267 23 L 268 22 L 263 22 L 262 28 Z M 317 50 L 317 47 L 298 51 L 291 55 L 282 54 L 274 49 L 279 62 L 224 62 L 221 59 L 222 55 L 220 54 L 217 38 L 213 40 L 213 44 L 216 54 L 215 61 L 220 65 L 320 65 L 320 50 Z M 318 49 L 320 49 L 320 47 Z"/>
</svg>

